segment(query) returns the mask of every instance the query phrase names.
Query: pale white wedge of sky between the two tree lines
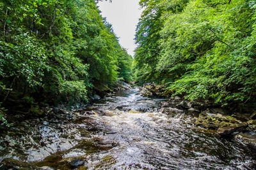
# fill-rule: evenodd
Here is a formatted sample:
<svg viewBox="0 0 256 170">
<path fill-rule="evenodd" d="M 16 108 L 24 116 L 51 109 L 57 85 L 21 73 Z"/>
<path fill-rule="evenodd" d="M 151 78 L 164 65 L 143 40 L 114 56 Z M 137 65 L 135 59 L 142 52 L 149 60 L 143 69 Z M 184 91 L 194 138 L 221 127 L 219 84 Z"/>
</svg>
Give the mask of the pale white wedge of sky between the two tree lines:
<svg viewBox="0 0 256 170">
<path fill-rule="evenodd" d="M 106 17 L 107 21 L 112 24 L 120 45 L 126 48 L 132 56 L 136 48 L 134 43 L 136 25 L 141 15 L 139 1 L 112 0 L 112 3 L 109 3 L 104 0 L 98 3 L 102 17 Z"/>
</svg>

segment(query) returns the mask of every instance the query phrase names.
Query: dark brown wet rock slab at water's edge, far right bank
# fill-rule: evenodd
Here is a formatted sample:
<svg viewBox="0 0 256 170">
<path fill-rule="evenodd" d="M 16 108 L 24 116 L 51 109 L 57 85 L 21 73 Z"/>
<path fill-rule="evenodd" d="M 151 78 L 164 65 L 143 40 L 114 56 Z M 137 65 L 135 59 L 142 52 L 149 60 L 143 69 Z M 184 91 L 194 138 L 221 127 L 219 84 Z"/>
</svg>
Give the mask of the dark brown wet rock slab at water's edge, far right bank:
<svg viewBox="0 0 256 170">
<path fill-rule="evenodd" d="M 220 136 L 231 136 L 234 133 L 246 131 L 246 127 L 248 127 L 247 122 L 243 122 L 237 125 L 232 125 L 230 127 L 220 127 L 218 129 L 218 134 L 220 134 Z"/>
</svg>

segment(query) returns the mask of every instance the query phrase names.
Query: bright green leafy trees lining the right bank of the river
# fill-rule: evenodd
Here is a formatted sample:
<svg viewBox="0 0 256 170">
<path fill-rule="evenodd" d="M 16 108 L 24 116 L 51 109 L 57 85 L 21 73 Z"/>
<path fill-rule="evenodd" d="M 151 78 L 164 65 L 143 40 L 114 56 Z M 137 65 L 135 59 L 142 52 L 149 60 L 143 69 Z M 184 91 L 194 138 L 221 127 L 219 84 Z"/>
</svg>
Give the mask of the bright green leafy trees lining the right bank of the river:
<svg viewBox="0 0 256 170">
<path fill-rule="evenodd" d="M 173 95 L 246 103 L 256 92 L 256 1 L 141 0 L 136 81 Z"/>
</svg>

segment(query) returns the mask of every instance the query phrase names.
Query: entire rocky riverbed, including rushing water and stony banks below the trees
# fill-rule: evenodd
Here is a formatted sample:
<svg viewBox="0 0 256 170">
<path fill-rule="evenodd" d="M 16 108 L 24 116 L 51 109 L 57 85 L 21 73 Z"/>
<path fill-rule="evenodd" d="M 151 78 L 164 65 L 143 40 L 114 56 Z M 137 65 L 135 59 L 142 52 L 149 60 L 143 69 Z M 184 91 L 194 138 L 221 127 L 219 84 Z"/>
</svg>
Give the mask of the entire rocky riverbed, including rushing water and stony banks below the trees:
<svg viewBox="0 0 256 170">
<path fill-rule="evenodd" d="M 46 108 L 4 132 L 0 169 L 255 169 L 255 116 L 206 105 L 126 89 Z"/>
</svg>

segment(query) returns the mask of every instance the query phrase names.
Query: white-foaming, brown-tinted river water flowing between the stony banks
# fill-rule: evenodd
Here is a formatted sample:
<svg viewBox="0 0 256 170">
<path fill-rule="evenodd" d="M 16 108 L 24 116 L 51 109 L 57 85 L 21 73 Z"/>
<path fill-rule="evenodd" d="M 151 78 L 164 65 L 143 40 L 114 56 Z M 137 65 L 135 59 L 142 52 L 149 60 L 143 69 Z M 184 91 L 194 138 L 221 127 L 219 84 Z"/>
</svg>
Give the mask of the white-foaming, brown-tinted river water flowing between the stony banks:
<svg viewBox="0 0 256 170">
<path fill-rule="evenodd" d="M 77 113 L 61 131 L 51 123 L 38 125 L 40 138 L 44 134 L 56 141 L 45 142 L 44 148 L 29 146 L 26 156 L 16 157 L 54 169 L 68 169 L 72 157 L 86 160 L 88 169 L 256 168 L 255 152 L 243 143 L 189 125 L 191 117 L 184 113 L 175 117 L 160 113 L 164 99 L 141 97 L 138 92 L 125 90 L 102 99 L 90 111 Z M 52 141 L 50 137 L 45 138 Z M 47 157 L 47 148 L 55 153 Z"/>
</svg>

